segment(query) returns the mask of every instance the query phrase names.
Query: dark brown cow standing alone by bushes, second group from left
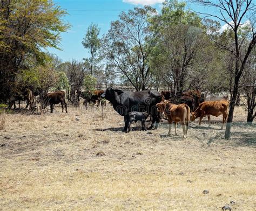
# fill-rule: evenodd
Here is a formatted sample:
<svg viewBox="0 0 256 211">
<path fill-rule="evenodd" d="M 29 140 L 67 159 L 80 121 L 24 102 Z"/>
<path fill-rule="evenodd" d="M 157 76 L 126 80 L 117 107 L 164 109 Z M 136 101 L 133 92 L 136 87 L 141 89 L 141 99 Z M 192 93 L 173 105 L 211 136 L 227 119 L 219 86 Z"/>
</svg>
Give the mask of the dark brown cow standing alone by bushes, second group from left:
<svg viewBox="0 0 256 211">
<path fill-rule="evenodd" d="M 58 92 L 54 92 L 54 93 L 48 93 L 44 96 L 43 102 L 44 102 L 44 107 L 43 107 L 44 109 L 46 108 L 46 106 L 48 106 L 50 104 L 51 113 L 53 112 L 53 105 L 61 103 L 62 104 L 62 112 L 63 112 L 64 106 L 66 108 L 65 92 L 58 91 Z M 67 112 L 68 112 L 68 110 L 66 108 L 66 113 Z"/>
</svg>

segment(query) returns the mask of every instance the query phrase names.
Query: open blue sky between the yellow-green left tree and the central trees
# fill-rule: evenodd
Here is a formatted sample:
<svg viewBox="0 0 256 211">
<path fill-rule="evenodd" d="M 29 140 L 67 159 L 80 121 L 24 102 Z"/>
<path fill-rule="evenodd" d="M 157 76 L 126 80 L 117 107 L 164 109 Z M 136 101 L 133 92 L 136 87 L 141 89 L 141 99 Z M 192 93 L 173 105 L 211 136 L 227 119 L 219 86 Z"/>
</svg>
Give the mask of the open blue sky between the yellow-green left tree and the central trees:
<svg viewBox="0 0 256 211">
<path fill-rule="evenodd" d="M 82 45 L 87 27 L 93 22 L 100 27 L 100 36 L 110 28 L 110 23 L 118 19 L 122 11 L 133 9 L 134 6 L 152 5 L 160 10 L 164 0 L 53 0 L 69 15 L 63 19 L 71 27 L 68 32 L 62 33 L 60 48 L 62 51 L 49 48 L 50 53 L 56 54 L 63 61 L 72 59 L 82 60 L 88 57 L 87 50 Z"/>
</svg>

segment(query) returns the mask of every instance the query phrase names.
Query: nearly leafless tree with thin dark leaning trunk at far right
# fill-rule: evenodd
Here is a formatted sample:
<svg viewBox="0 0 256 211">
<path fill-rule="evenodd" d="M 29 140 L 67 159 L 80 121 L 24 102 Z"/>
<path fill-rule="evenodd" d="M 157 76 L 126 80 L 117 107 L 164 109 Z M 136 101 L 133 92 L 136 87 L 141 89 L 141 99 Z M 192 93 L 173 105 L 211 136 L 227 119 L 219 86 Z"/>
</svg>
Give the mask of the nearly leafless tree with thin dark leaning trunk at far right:
<svg viewBox="0 0 256 211">
<path fill-rule="evenodd" d="M 219 48 L 230 52 L 230 54 L 234 57 L 233 92 L 225 131 L 225 139 L 229 139 L 231 135 L 233 112 L 238 94 L 239 81 L 242 73 L 245 70 L 248 57 L 250 56 L 256 41 L 256 33 L 254 32 L 256 11 L 255 5 L 253 4 L 252 0 L 196 0 L 196 2 L 201 5 L 211 6 L 217 10 L 219 15 L 213 15 L 210 13 L 201 14 L 206 15 L 206 17 L 218 18 L 221 22 L 227 24 L 232 31 L 230 34 L 233 39 L 232 45 L 226 45 L 226 43 L 213 40 Z M 245 18 L 250 20 L 250 27 L 248 27 L 248 31 L 246 33 L 242 33 L 239 36 L 239 30 L 244 25 L 242 22 L 245 20 Z M 249 42 L 245 48 L 242 48 L 241 46 L 245 45 L 246 39 L 248 39 Z M 245 51 L 242 51 L 242 49 L 245 49 Z"/>
</svg>

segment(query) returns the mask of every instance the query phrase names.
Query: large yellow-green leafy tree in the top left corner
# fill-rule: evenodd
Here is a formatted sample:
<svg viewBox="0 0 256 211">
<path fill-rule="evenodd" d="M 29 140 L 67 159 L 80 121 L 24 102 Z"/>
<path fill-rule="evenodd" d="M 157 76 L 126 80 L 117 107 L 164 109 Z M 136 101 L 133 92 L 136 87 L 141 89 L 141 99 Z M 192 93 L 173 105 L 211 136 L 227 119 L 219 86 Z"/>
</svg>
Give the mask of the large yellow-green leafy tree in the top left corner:
<svg viewBox="0 0 256 211">
<path fill-rule="evenodd" d="M 58 48 L 60 32 L 68 29 L 66 12 L 51 0 L 0 1 L 0 98 L 6 101 L 20 69 L 28 69 L 30 59 L 43 64 L 42 48 Z"/>
</svg>

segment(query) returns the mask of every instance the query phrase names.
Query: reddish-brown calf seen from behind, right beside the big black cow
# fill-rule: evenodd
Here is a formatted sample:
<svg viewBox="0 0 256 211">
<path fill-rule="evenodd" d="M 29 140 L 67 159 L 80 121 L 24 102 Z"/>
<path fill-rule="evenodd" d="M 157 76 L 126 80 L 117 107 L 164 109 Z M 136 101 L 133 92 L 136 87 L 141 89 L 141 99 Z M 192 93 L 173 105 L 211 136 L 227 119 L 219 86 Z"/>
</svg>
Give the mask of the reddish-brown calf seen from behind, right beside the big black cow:
<svg viewBox="0 0 256 211">
<path fill-rule="evenodd" d="M 168 117 L 169 132 L 171 134 L 172 123 L 175 126 L 175 135 L 177 135 L 177 123 L 180 122 L 183 128 L 183 138 L 187 138 L 188 122 L 190 121 L 190 107 L 187 104 L 172 104 L 166 101 L 162 101 L 157 104 L 159 112 L 165 114 Z"/>
</svg>

